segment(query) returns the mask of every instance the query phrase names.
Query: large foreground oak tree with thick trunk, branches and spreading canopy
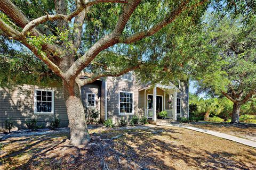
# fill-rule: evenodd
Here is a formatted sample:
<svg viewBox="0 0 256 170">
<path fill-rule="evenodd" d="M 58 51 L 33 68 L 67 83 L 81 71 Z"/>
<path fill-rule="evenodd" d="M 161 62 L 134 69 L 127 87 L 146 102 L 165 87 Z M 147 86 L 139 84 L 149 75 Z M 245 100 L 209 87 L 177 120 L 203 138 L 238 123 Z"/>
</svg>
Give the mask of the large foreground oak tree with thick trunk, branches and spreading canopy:
<svg viewBox="0 0 256 170">
<path fill-rule="evenodd" d="M 148 80 L 148 75 L 155 74 L 156 81 L 164 80 L 163 77 L 166 82 L 170 81 L 170 75 L 179 72 L 179 69 L 175 72 L 175 66 L 183 67 L 183 63 L 188 62 L 182 59 L 179 46 L 175 44 L 179 38 L 175 36 L 186 38 L 186 34 L 193 31 L 191 25 L 198 23 L 209 2 L 2 0 L 0 33 L 8 38 L 3 43 L 7 41 L 10 45 L 10 40 L 14 40 L 26 47 L 33 54 L 28 56 L 41 65 L 45 75 L 54 73 L 61 79 L 70 140 L 73 144 L 81 144 L 90 137 L 80 87 L 99 78 L 118 77 L 131 70 L 142 70 L 138 75 L 145 80 Z M 221 8 L 222 2 L 216 1 L 216 5 Z M 225 2 L 231 4 L 234 1 Z M 243 1 L 238 2 L 243 6 Z M 177 47 L 179 50 L 175 51 Z M 13 54 L 19 56 L 18 53 Z M 18 58 L 18 65 L 22 68 L 22 61 L 26 60 Z M 10 54 L 5 55 L 4 60 L 1 58 L 2 65 L 17 61 L 14 59 Z M 14 62 L 10 66 L 16 64 Z M 44 64 L 50 72 L 45 70 Z M 33 64 L 29 66 L 27 70 L 42 77 L 42 70 L 34 69 Z M 90 72 L 91 77 L 79 79 L 78 75 L 83 70 Z M 150 74 L 152 72 L 154 74 Z"/>
</svg>

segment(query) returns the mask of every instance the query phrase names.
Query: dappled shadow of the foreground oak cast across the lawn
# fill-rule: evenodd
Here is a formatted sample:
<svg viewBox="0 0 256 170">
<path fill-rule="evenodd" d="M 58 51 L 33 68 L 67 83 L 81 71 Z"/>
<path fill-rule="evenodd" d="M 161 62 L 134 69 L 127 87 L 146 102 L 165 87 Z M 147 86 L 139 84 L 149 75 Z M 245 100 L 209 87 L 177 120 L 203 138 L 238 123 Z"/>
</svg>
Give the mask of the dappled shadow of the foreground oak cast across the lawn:
<svg viewBox="0 0 256 170">
<path fill-rule="evenodd" d="M 65 140 L 41 137 L 35 143 L 15 150 L 32 156 L 15 169 L 102 169 L 102 160 L 109 169 L 253 169 L 251 156 L 254 150 L 237 152 L 213 152 L 207 148 L 195 149 L 180 145 L 177 135 L 185 135 L 173 129 L 120 130 L 123 137 L 111 140 L 118 131 L 94 133 L 89 144 L 82 149 L 66 146 Z M 100 138 L 99 138 L 100 137 Z M 56 138 L 56 137 L 55 137 Z M 30 139 L 30 141 L 33 139 Z M 204 142 L 204 141 L 202 141 Z M 93 145 L 92 145 L 93 144 Z M 236 156 L 243 160 L 234 159 Z"/>
</svg>

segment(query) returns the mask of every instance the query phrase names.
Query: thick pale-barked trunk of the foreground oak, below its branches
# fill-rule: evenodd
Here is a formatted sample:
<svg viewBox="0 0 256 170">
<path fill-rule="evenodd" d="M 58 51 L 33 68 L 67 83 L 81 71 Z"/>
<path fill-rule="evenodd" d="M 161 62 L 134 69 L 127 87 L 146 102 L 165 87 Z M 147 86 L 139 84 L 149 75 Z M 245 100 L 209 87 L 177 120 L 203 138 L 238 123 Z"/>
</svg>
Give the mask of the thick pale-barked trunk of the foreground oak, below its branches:
<svg viewBox="0 0 256 170">
<path fill-rule="evenodd" d="M 87 129 L 80 88 L 75 82 L 63 82 L 63 89 L 70 127 L 70 143 L 72 145 L 86 144 L 90 141 L 90 135 Z"/>
</svg>

